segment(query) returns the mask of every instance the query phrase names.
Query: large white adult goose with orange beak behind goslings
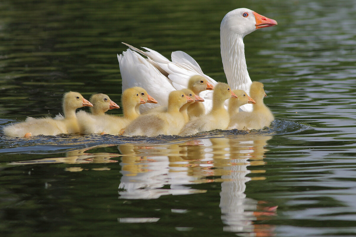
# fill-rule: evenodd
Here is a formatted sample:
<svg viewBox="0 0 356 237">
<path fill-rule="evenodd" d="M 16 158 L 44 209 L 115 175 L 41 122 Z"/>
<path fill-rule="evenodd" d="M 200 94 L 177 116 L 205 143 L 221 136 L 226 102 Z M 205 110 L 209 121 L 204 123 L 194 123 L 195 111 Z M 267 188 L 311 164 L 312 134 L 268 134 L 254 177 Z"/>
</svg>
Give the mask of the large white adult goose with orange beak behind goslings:
<svg viewBox="0 0 356 237">
<path fill-rule="evenodd" d="M 247 8 L 232 10 L 221 21 L 221 58 L 227 83 L 232 89 L 249 93 L 252 83 L 247 72 L 244 37 L 256 29 L 274 25 L 277 25 L 275 20 Z M 187 53 L 172 52 L 172 61 L 170 61 L 152 49 L 144 48 L 147 50 L 144 52 L 129 44 L 126 45 L 133 50 L 127 49 L 126 52 L 117 55 L 122 77 L 122 90 L 132 86 L 142 86 L 157 99 L 159 105 L 167 106 L 168 94 L 173 90 L 186 88 L 189 78 L 193 75 L 202 75 L 211 84 L 217 84 L 214 79 L 203 73 L 199 64 Z M 143 54 L 147 59 L 134 51 Z M 162 93 L 162 89 L 166 93 Z M 212 92 L 204 91 L 200 96 L 205 100 L 205 108 L 211 109 Z M 146 106 L 145 109 L 148 108 Z M 247 111 L 252 110 L 251 105 L 244 105 L 242 108 Z"/>
</svg>

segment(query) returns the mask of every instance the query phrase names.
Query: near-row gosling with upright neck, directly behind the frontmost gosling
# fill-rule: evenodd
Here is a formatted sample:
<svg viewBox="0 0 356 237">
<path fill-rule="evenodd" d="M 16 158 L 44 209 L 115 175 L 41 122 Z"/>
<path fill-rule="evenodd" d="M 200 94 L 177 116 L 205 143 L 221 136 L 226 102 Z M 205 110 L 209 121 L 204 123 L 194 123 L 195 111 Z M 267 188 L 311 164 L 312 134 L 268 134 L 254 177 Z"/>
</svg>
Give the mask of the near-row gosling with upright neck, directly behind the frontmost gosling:
<svg viewBox="0 0 356 237">
<path fill-rule="evenodd" d="M 197 132 L 210 131 L 215 129 L 226 129 L 230 122 L 229 112 L 224 107 L 225 100 L 237 97 L 226 83 L 215 85 L 213 94 L 213 107 L 206 115 L 201 115 L 184 125 L 180 136 L 189 136 Z"/>
</svg>

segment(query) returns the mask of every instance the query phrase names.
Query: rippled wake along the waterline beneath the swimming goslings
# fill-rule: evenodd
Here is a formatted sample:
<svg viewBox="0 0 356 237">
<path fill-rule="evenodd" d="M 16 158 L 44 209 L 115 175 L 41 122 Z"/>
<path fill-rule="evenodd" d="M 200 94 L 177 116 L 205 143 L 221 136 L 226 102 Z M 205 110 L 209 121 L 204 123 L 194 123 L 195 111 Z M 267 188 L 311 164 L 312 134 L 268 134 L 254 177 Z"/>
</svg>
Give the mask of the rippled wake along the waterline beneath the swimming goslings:
<svg viewBox="0 0 356 237">
<path fill-rule="evenodd" d="M 311 133 L 313 128 L 289 120 L 275 119 L 270 127 L 265 127 L 260 130 L 242 131 L 242 130 L 214 130 L 209 132 L 200 132 L 192 136 L 181 137 L 177 135 L 159 135 L 156 137 L 127 137 L 127 136 L 112 136 L 112 135 L 67 135 L 62 134 L 58 136 L 43 136 L 38 135 L 28 138 L 13 138 L 2 135 L 0 141 L 0 153 L 29 153 L 29 154 L 52 154 L 59 153 L 73 149 L 80 149 L 86 147 L 107 145 L 119 145 L 125 143 L 133 144 L 174 144 L 193 139 L 207 139 L 207 138 L 234 138 L 236 136 L 244 136 L 246 134 L 254 135 L 283 135 L 283 134 L 298 134 Z"/>
</svg>

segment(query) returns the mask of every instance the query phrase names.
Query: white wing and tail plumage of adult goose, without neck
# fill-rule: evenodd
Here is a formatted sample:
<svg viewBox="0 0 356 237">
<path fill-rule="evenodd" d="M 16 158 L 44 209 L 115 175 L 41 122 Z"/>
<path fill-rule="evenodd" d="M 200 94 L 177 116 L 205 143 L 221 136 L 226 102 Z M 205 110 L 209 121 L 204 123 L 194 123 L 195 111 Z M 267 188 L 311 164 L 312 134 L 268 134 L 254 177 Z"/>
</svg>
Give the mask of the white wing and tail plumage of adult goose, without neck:
<svg viewBox="0 0 356 237">
<path fill-rule="evenodd" d="M 129 44 L 123 44 L 130 49 L 117 55 L 122 77 L 122 90 L 124 91 L 132 86 L 141 86 L 158 101 L 159 106 L 167 106 L 168 95 L 171 91 L 187 88 L 188 80 L 193 75 L 201 75 L 213 85 L 218 83 L 208 75 L 205 75 L 199 64 L 187 53 L 182 51 L 172 52 L 171 62 L 162 54 L 150 48 L 142 47 L 147 50 L 145 52 Z M 147 58 L 143 58 L 137 52 Z M 203 104 L 206 111 L 209 111 L 213 105 L 213 92 L 203 91 L 200 96 L 205 100 Z M 140 110 L 143 112 L 156 106 L 145 104 L 140 107 Z"/>
</svg>

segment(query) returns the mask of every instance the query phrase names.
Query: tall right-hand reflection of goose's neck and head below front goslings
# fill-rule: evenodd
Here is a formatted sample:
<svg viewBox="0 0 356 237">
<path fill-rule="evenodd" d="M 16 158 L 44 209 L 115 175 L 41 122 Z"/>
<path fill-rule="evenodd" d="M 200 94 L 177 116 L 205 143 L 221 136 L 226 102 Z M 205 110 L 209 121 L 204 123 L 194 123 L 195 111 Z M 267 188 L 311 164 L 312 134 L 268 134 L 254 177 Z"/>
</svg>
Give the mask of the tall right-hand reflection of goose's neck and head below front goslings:
<svg viewBox="0 0 356 237">
<path fill-rule="evenodd" d="M 246 182 L 251 173 L 247 167 L 263 164 L 265 149 L 270 136 L 243 135 L 228 138 L 210 139 L 213 147 L 215 174 L 221 175 L 220 209 L 224 231 L 255 233 L 256 236 L 272 236 L 273 226 L 255 225 L 254 221 L 275 215 L 277 207 L 263 207 L 262 202 L 246 197 Z M 263 173 L 264 170 L 255 170 Z M 258 211 L 257 211 L 258 210 Z"/>
</svg>

